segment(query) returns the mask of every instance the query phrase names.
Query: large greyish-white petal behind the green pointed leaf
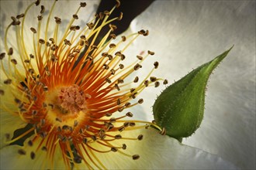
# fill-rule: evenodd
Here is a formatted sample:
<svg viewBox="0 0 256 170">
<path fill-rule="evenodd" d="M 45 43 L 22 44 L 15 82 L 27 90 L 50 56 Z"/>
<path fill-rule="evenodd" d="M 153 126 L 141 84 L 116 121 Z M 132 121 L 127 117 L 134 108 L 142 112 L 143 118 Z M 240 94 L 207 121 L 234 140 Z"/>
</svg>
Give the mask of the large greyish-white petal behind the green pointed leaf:
<svg viewBox="0 0 256 170">
<path fill-rule="evenodd" d="M 184 143 L 241 168 L 255 168 L 254 8 L 255 2 L 156 1 L 130 26 L 150 30 L 134 46 L 155 51 L 155 75 L 171 83 L 234 44 L 209 81 L 201 128 Z M 145 92 L 146 110 L 160 91 Z"/>
</svg>

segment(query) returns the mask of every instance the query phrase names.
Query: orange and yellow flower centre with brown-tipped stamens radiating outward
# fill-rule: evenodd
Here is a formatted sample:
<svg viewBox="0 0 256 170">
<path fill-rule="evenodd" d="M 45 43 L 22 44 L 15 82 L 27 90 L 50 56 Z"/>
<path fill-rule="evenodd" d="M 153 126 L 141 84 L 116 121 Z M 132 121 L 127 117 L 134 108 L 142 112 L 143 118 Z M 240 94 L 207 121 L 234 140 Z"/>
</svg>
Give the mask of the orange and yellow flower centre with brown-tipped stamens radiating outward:
<svg viewBox="0 0 256 170">
<path fill-rule="evenodd" d="M 107 168 L 97 158 L 99 153 L 118 152 L 120 156 L 137 160 L 140 158 L 137 153 L 126 153 L 130 149 L 126 141 L 140 141 L 144 136 L 137 134 L 137 138 L 131 138 L 123 136 L 123 131 L 154 126 L 164 134 L 154 123 L 130 120 L 133 114 L 126 111 L 144 102 L 137 96 L 146 87 L 158 87 L 161 81 L 167 83 L 150 76 L 157 69 L 157 62 L 146 77 L 135 76 L 130 80 L 154 52 L 141 53 L 128 66 L 122 63 L 132 57 L 125 53 L 130 44 L 149 32 L 140 30 L 113 43 L 116 26 L 111 22 L 122 19 L 123 15 L 111 19 L 112 11 L 120 5 L 118 1 L 109 12 L 95 15 L 84 28 L 74 25 L 79 11 L 86 6 L 81 2 L 61 32 L 60 27 L 65 23 L 53 15 L 56 3 L 53 2 L 49 11 L 40 1 L 31 3 L 24 13 L 11 17 L 12 23 L 5 30 L 5 52 L 0 56 L 1 110 L 19 117 L 21 124 L 29 128 L 21 134 L 5 134 L 4 145 L 29 138 L 22 145 L 31 151 L 19 149 L 16 153 L 31 159 L 46 153 L 41 158 L 44 168 L 54 168 L 57 154 L 62 155 L 66 168 L 81 163 L 84 168 Z M 38 7 L 37 21 L 27 29 L 28 12 Z M 109 31 L 97 42 L 103 27 Z M 9 44 L 12 34 L 16 35 L 16 46 Z M 27 34 L 32 39 L 26 39 Z M 28 134 L 31 136 L 26 137 Z M 116 145 L 116 141 L 121 143 Z"/>
</svg>

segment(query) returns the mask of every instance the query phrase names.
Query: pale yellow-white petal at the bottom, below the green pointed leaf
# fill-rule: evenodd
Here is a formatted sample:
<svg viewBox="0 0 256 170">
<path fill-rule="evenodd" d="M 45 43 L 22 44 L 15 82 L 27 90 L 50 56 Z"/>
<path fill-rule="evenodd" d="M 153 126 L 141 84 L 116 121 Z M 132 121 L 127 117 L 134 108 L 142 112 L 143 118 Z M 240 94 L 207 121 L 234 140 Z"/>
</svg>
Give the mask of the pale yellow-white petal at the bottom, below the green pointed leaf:
<svg viewBox="0 0 256 170">
<path fill-rule="evenodd" d="M 211 155 L 197 148 L 181 145 L 176 139 L 162 136 L 152 128 L 137 131 L 123 131 L 122 137 L 137 138 L 138 134 L 144 134 L 142 141 L 116 140 L 113 146 L 127 145 L 122 150 L 129 155 L 140 155 L 138 160 L 117 152 L 107 154 L 95 153 L 97 158 L 108 169 L 234 169 L 230 162 Z M 98 148 L 101 148 L 98 146 Z M 104 150 L 102 148 L 102 150 Z M 105 148 L 106 150 L 106 148 Z M 81 165 L 81 168 L 85 166 Z"/>
</svg>

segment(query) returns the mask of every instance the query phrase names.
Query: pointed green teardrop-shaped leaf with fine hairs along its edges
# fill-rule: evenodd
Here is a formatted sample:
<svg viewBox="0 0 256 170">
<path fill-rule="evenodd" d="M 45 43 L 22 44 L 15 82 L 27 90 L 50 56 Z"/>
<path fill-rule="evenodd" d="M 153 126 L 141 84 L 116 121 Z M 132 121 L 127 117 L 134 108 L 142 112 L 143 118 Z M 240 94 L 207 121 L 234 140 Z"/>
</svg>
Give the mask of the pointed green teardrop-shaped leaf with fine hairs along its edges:
<svg viewBox="0 0 256 170">
<path fill-rule="evenodd" d="M 192 70 L 157 97 L 153 106 L 154 120 L 158 126 L 165 128 L 166 134 L 180 140 L 199 128 L 204 112 L 206 83 L 230 49 Z"/>
</svg>

